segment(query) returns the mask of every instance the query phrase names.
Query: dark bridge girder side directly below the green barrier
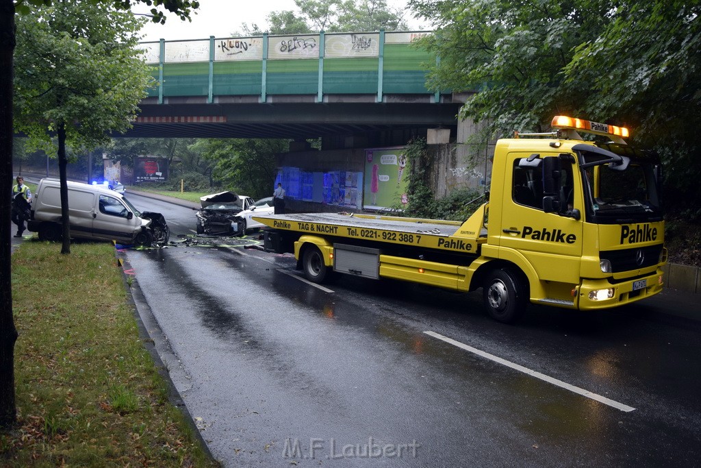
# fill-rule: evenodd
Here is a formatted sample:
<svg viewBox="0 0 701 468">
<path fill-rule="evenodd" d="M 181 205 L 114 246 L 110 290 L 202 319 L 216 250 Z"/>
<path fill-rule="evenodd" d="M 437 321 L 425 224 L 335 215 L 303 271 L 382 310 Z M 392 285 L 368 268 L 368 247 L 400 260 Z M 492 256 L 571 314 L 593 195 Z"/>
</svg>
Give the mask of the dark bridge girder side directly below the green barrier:
<svg viewBox="0 0 701 468">
<path fill-rule="evenodd" d="M 200 97 L 142 101 L 142 112 L 125 138 L 320 138 L 423 128 L 455 128 L 463 102 L 428 102 L 426 95 L 395 102 L 369 102 L 369 96 L 341 96 L 314 102 L 316 96 L 268 96 L 267 101 Z M 372 97 L 374 100 L 374 97 Z M 307 100 L 307 102 L 305 102 Z M 447 100 L 450 100 L 449 97 Z M 257 101 L 257 98 L 256 98 Z M 295 102 L 296 101 L 296 102 Z M 423 102 L 420 102 L 423 101 Z"/>
</svg>

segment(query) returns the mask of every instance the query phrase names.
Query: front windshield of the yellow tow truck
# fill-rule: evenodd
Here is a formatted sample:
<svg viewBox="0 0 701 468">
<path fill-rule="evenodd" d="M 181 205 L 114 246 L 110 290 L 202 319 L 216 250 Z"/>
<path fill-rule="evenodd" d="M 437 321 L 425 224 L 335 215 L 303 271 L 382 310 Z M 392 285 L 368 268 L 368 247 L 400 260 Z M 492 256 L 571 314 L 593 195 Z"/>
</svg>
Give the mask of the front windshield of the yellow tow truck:
<svg viewBox="0 0 701 468">
<path fill-rule="evenodd" d="M 586 209 L 601 224 L 662 219 L 657 170 L 653 161 L 631 157 L 625 168 L 587 153 L 583 169 Z M 597 159 L 599 164 L 597 164 Z M 588 163 L 594 163 L 590 166 Z"/>
</svg>

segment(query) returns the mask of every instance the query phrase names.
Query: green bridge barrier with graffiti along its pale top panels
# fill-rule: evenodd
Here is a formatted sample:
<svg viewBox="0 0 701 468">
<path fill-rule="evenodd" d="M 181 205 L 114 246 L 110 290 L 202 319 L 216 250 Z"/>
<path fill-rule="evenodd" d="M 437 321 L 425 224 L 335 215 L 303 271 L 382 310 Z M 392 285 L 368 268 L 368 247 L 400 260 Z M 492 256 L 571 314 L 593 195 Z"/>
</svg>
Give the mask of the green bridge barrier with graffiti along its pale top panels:
<svg viewBox="0 0 701 468">
<path fill-rule="evenodd" d="M 435 57 L 412 43 L 429 32 L 364 32 L 144 42 L 158 81 L 149 97 L 270 95 L 430 95 Z"/>
</svg>

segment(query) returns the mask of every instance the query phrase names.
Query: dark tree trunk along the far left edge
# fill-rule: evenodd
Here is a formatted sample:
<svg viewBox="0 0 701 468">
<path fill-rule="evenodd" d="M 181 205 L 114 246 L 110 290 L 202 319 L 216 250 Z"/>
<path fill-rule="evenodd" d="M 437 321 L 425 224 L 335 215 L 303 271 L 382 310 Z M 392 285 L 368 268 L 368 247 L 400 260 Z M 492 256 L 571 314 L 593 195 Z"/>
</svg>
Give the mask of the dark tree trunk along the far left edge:
<svg viewBox="0 0 701 468">
<path fill-rule="evenodd" d="M 0 427 L 17 420 L 15 408 L 15 341 L 17 329 L 12 312 L 11 210 L 13 145 L 13 52 L 15 6 L 0 0 Z"/>
</svg>

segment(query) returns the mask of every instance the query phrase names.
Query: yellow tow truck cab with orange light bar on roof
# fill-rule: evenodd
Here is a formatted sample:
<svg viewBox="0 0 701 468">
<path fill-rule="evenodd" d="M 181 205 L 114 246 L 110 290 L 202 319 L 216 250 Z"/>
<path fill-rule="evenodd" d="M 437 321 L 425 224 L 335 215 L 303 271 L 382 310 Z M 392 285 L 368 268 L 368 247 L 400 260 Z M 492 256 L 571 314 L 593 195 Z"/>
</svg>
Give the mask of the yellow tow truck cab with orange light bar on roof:
<svg viewBox="0 0 701 468">
<path fill-rule="evenodd" d="M 627 146 L 625 128 L 561 116 L 552 126 L 498 141 L 482 255 L 523 272 L 531 302 L 601 309 L 659 293 L 659 160 Z"/>
</svg>

